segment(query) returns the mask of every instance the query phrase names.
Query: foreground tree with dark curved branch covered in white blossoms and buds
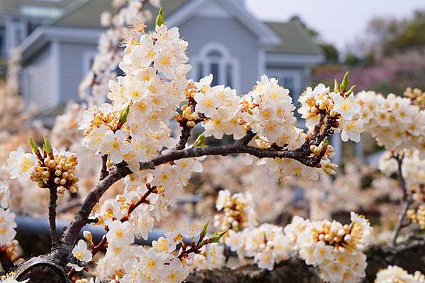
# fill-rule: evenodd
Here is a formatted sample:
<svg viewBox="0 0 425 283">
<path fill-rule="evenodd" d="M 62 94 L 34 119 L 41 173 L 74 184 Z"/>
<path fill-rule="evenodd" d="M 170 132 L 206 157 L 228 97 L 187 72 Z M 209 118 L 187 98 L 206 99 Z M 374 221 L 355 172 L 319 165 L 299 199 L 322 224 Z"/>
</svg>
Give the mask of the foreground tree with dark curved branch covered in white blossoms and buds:
<svg viewBox="0 0 425 283">
<path fill-rule="evenodd" d="M 154 30 L 145 33 L 145 25 L 132 20 L 145 15 L 142 8 L 148 1 L 114 2 L 118 13 L 103 14 L 103 22 L 112 27 L 101 38 L 101 55 L 81 85 L 81 90 L 89 87 L 96 97 L 91 102 L 97 105 L 84 111 L 79 129 L 84 131 L 82 145 L 92 151 L 93 158 L 101 159 L 100 178 L 72 223 L 58 235 L 57 199 L 79 191 L 79 156 L 53 148 L 47 138 L 42 145 L 30 139 L 32 152 L 23 147 L 10 152 L 11 179 L 33 182 L 50 195 L 52 248 L 47 255 L 14 264 L 14 215 L 3 201 L 8 199 L 5 185 L 0 243 L 8 265 L 2 262 L 2 267 L 14 273 L 3 282 L 183 282 L 191 270 L 222 267 L 221 244 L 239 257 L 254 257 L 261 269 L 273 270 L 280 262 L 298 257 L 317 267 L 326 282 L 360 282 L 367 264 L 363 250 L 372 233 L 363 216 L 351 213 L 348 224 L 295 217 L 285 228 L 258 225 L 249 194 L 220 192 L 216 207 L 223 214 L 215 218 L 215 233 L 208 233 L 208 222 L 181 221 L 151 247 L 135 245 L 135 239 L 147 239 L 155 222 L 168 215 L 192 172 L 203 170 L 206 156 L 246 155 L 248 162 L 265 165 L 280 181 L 288 177 L 317 180 L 320 172 L 336 171 L 329 137 L 341 131 L 342 140 L 358 142 L 365 112 L 349 87 L 348 74 L 332 90 L 319 84 L 302 93 L 297 111 L 306 121 L 306 131 L 297 127 L 289 91 L 277 79 L 264 75 L 244 95 L 229 87 L 212 87 L 212 75 L 193 82 L 187 79 L 191 70 L 188 43 L 180 38 L 178 28 L 166 26 L 162 10 Z M 126 22 L 133 25 L 124 33 L 120 27 Z M 125 50 L 120 55 L 118 43 L 123 35 Z M 115 78 L 118 62 L 125 74 Z M 108 102 L 99 103 L 105 92 Z M 172 138 L 176 128 L 177 139 Z M 203 133 L 196 135 L 194 128 Z M 232 141 L 216 146 L 205 141 L 224 135 Z M 411 137 L 409 145 L 419 145 Z M 94 212 L 101 197 L 120 179 L 124 179 L 123 194 L 104 201 Z M 98 243 L 84 231 L 89 223 L 105 231 Z M 100 255 L 101 250 L 106 253 Z M 419 273 L 414 276 L 424 280 Z"/>
</svg>

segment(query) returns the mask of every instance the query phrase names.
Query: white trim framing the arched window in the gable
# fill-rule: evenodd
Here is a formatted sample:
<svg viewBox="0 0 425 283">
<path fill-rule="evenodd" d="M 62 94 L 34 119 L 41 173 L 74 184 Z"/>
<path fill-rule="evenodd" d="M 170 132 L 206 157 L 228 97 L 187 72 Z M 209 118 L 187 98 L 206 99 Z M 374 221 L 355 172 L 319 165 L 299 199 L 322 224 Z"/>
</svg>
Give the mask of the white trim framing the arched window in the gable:
<svg viewBox="0 0 425 283">
<path fill-rule="evenodd" d="M 211 60 L 208 57 L 208 53 L 213 50 L 218 50 L 222 54 L 220 60 Z M 222 45 L 221 43 L 206 43 L 205 45 L 203 45 L 203 48 L 200 49 L 199 55 L 192 57 L 191 64 L 193 67 L 191 71 L 191 77 L 193 77 L 193 79 L 198 79 L 196 76 L 198 75 L 198 65 L 200 64 L 203 65 L 204 77 L 208 76 L 208 74 L 211 73 L 211 63 L 214 62 L 218 63 L 220 68 L 220 77 L 217 78 L 218 84 L 222 84 L 227 87 L 227 70 L 225 68 L 228 64 L 230 64 L 232 65 L 232 89 L 239 89 L 239 60 L 237 60 L 236 57 L 232 57 L 232 55 L 230 55 L 229 50 L 227 50 L 225 45 Z"/>
</svg>

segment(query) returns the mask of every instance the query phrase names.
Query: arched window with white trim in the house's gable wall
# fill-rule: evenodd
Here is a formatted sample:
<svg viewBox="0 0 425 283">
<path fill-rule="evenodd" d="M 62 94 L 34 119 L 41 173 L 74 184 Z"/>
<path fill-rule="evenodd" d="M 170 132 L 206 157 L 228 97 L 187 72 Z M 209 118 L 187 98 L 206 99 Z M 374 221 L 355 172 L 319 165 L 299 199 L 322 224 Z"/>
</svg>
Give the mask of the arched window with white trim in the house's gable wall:
<svg viewBox="0 0 425 283">
<path fill-rule="evenodd" d="M 237 71 L 238 62 L 232 57 L 220 43 L 207 43 L 201 48 L 198 57 L 193 57 L 192 61 L 193 79 L 199 80 L 208 74 L 212 74 L 212 87 L 223 84 L 226 87 L 237 89 L 238 76 Z"/>
</svg>

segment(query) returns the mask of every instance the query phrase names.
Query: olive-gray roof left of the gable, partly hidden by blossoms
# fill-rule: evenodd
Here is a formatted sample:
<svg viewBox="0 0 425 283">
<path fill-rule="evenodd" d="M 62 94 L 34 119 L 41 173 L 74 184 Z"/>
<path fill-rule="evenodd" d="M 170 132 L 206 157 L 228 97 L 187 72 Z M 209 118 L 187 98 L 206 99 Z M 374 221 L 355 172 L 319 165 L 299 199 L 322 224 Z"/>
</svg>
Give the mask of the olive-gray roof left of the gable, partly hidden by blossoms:
<svg viewBox="0 0 425 283">
<path fill-rule="evenodd" d="M 190 0 L 162 0 L 164 16 L 169 16 Z M 158 9 L 148 4 L 148 9 L 152 15 L 156 16 Z M 108 0 L 80 0 L 78 3 L 68 7 L 64 15 L 56 21 L 52 21 L 52 26 L 67 26 L 74 28 L 102 28 L 100 24 L 101 13 L 103 11 L 113 11 L 111 1 Z"/>
</svg>

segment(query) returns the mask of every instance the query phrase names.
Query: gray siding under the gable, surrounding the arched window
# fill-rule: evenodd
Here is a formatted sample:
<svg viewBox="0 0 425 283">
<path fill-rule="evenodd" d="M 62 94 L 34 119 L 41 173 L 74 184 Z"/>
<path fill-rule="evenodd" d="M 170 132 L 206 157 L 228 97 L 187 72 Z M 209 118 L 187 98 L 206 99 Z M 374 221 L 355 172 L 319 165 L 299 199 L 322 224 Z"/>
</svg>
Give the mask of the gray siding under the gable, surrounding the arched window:
<svg viewBox="0 0 425 283">
<path fill-rule="evenodd" d="M 179 26 L 181 37 L 188 41 L 188 53 L 196 58 L 210 43 L 224 45 L 237 61 L 237 91 L 246 93 L 259 79 L 259 39 L 234 18 L 193 17 Z M 191 62 L 193 63 L 193 62 Z M 194 66 L 196 67 L 196 66 Z M 198 79 L 194 72 L 193 79 Z"/>
</svg>

